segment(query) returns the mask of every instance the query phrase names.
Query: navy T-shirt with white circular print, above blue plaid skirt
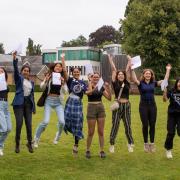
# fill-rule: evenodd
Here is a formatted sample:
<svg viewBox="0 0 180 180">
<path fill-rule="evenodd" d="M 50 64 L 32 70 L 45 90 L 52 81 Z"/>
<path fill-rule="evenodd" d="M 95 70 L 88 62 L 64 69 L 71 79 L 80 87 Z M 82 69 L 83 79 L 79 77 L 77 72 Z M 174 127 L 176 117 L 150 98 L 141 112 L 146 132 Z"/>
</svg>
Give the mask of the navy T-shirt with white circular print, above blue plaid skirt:
<svg viewBox="0 0 180 180">
<path fill-rule="evenodd" d="M 69 89 L 69 93 L 73 93 L 80 98 L 82 98 L 83 94 L 87 91 L 87 85 L 83 80 L 77 80 L 75 78 L 69 77 L 67 86 Z"/>
</svg>

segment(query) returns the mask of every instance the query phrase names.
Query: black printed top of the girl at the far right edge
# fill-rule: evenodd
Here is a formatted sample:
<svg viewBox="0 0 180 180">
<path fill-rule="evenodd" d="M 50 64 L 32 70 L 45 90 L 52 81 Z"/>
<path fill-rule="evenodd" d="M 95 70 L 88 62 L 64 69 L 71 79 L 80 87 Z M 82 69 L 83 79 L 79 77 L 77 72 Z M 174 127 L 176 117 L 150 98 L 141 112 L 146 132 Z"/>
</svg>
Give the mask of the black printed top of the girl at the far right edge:
<svg viewBox="0 0 180 180">
<path fill-rule="evenodd" d="M 180 113 L 180 91 L 171 89 L 167 93 L 167 97 L 169 98 L 169 106 L 168 112 L 179 112 Z"/>
</svg>

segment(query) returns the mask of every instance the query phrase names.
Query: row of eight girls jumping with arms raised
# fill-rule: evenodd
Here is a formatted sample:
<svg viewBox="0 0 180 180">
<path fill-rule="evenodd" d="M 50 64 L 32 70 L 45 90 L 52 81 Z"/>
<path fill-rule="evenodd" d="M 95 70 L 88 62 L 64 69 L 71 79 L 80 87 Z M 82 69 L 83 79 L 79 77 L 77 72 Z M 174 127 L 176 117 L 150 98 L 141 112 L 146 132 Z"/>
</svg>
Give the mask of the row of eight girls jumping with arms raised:
<svg viewBox="0 0 180 180">
<path fill-rule="evenodd" d="M 119 130 L 120 121 L 122 119 L 127 137 L 127 148 L 129 152 L 134 150 L 134 139 L 131 130 L 131 103 L 129 101 L 130 81 L 133 81 L 140 92 L 139 114 L 142 122 L 142 133 L 144 138 L 144 151 L 156 151 L 154 144 L 155 125 L 157 117 L 157 106 L 154 98 L 155 88 L 161 86 L 161 81 L 155 80 L 154 72 L 151 69 L 144 69 L 140 80 L 137 79 L 132 69 L 131 57 L 127 56 L 128 63 L 126 70 L 117 70 L 113 56 L 108 55 L 109 63 L 112 70 L 112 87 L 115 95 L 115 101 L 111 106 L 112 110 L 112 127 L 110 132 L 110 153 L 115 152 L 115 139 Z M 101 78 L 98 72 L 90 75 L 88 84 L 80 79 L 81 70 L 77 67 L 72 68 L 72 77 L 66 70 L 65 57 L 62 56 L 61 63 L 54 63 L 46 74 L 44 81 L 40 84 L 42 90 L 47 92 L 44 103 L 44 118 L 39 123 L 34 139 L 32 139 L 32 114 L 36 113 L 34 101 L 34 83 L 30 79 L 31 69 L 27 65 L 23 65 L 21 71 L 18 70 L 18 58 L 16 52 L 13 53 L 14 81 L 15 81 L 15 97 L 12 105 L 16 119 L 16 135 L 15 135 L 15 152 L 20 152 L 20 137 L 25 120 L 27 132 L 27 148 L 30 153 L 34 152 L 34 148 L 39 146 L 40 136 L 46 129 L 51 109 L 55 109 L 57 114 L 57 132 L 54 138 L 54 144 L 57 144 L 63 130 L 71 133 L 74 137 L 74 145 L 72 152 L 78 154 L 79 140 L 83 136 L 83 104 L 82 98 L 86 94 L 88 97 L 87 105 L 87 147 L 86 158 L 91 158 L 91 143 L 97 123 L 97 131 L 99 136 L 100 157 L 105 158 L 104 151 L 104 126 L 105 126 L 105 108 L 102 102 L 102 96 L 111 101 L 111 85 L 104 83 L 100 89 L 97 84 Z M 164 79 L 168 80 L 171 65 L 166 66 L 166 74 Z M 52 74 L 60 73 L 61 84 L 53 84 Z M 0 67 L 0 74 L 4 74 L 7 82 L 7 72 Z M 3 156 L 4 142 L 11 131 L 11 118 L 8 108 L 8 92 L 9 89 L 0 91 L 0 156 Z M 64 94 L 69 92 L 68 99 L 64 108 Z M 170 99 L 168 107 L 167 120 L 167 137 L 165 141 L 165 149 L 167 158 L 172 158 L 173 138 L 175 131 L 180 136 L 180 78 L 176 80 L 172 89 L 165 89 L 163 100 Z M 149 138 L 148 138 L 149 134 Z"/>
</svg>

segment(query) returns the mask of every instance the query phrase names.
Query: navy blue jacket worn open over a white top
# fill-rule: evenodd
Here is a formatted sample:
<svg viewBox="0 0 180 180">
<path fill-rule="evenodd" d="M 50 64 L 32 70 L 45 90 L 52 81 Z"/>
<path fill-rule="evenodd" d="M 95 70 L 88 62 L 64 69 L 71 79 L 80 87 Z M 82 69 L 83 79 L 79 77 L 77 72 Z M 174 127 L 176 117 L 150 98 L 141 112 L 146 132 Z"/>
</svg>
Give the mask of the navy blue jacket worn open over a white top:
<svg viewBox="0 0 180 180">
<path fill-rule="evenodd" d="M 14 67 L 14 80 L 16 85 L 16 92 L 15 97 L 13 99 L 12 105 L 13 106 L 21 106 L 24 104 L 24 90 L 23 90 L 23 81 L 24 77 L 19 73 L 18 70 L 18 60 L 13 60 L 13 67 Z M 30 94 L 30 100 L 32 102 L 32 112 L 36 111 L 35 102 L 34 102 L 34 82 L 31 81 L 32 84 L 32 91 Z"/>
</svg>

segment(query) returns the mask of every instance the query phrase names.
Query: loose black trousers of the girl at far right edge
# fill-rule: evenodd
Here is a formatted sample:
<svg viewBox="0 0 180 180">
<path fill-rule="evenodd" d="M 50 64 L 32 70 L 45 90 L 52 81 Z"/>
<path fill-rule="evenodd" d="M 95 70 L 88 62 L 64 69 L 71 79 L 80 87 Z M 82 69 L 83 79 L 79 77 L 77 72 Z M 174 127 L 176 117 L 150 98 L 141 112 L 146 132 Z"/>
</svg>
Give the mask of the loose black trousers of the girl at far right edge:
<svg viewBox="0 0 180 180">
<path fill-rule="evenodd" d="M 180 113 L 168 113 L 168 120 L 167 120 L 167 136 L 164 147 L 167 150 L 173 148 L 173 139 L 176 133 L 180 136 Z"/>
</svg>

